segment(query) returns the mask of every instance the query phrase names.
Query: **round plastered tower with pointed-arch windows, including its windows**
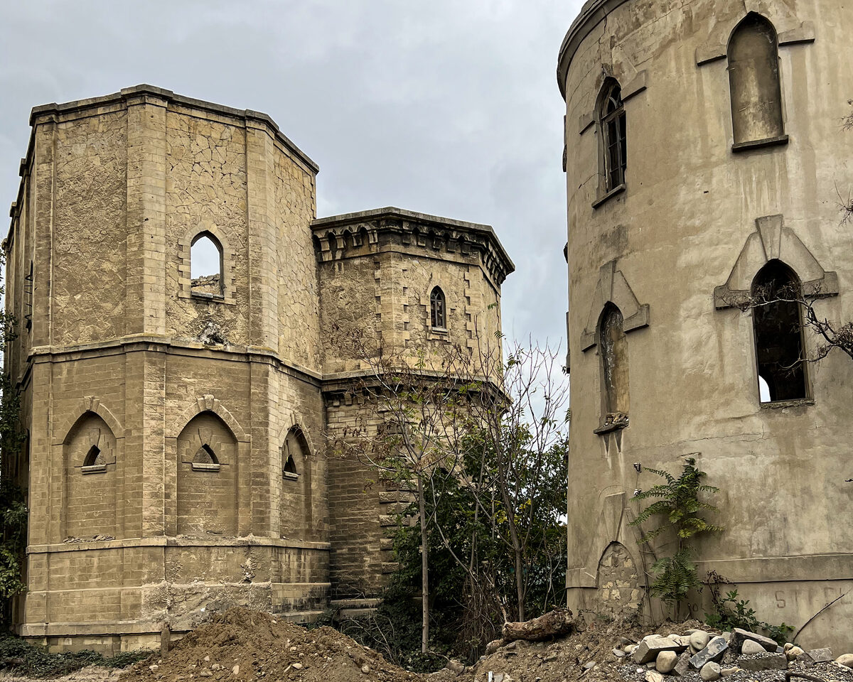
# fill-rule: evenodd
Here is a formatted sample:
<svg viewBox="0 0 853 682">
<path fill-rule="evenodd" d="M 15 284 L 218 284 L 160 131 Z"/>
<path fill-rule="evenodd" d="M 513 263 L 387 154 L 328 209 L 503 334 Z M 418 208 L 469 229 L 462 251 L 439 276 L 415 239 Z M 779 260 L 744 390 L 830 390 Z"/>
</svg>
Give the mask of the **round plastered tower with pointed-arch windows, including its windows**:
<svg viewBox="0 0 853 682">
<path fill-rule="evenodd" d="M 589 0 L 566 35 L 572 607 L 662 616 L 631 498 L 690 453 L 726 527 L 700 576 L 795 627 L 853 587 L 853 363 L 798 362 L 796 305 L 733 305 L 787 282 L 853 319 L 851 29 L 835 0 Z M 853 593 L 799 639 L 851 624 Z"/>
</svg>

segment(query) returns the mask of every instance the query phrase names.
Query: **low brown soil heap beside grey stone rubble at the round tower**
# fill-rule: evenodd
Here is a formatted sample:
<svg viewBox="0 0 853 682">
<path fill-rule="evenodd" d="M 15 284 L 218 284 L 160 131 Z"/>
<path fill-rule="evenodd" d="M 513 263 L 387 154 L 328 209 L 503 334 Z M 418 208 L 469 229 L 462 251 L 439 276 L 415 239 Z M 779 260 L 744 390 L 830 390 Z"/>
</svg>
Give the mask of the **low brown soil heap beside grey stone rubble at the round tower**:
<svg viewBox="0 0 853 682">
<path fill-rule="evenodd" d="M 664 623 L 656 630 L 632 627 L 624 622 L 578 623 L 582 629 L 568 637 L 549 642 L 511 642 L 477 662 L 456 677 L 442 670 L 433 673 L 430 682 L 604 682 L 623 679 L 619 668 L 624 660 L 613 654 L 619 638 L 639 641 L 652 632 L 668 635 L 689 627 L 711 632 L 699 621 Z M 595 663 L 595 665 L 593 665 Z M 492 673 L 489 679 L 489 673 Z M 446 680 L 444 679 L 446 678 Z"/>
</svg>

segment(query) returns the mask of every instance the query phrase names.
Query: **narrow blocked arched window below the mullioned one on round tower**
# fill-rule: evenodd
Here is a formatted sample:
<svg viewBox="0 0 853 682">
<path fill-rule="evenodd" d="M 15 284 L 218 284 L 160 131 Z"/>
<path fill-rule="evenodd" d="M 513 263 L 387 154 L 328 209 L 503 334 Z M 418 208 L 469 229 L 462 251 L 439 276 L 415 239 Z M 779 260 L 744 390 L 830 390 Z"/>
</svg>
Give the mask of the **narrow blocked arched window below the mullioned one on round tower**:
<svg viewBox="0 0 853 682">
<path fill-rule="evenodd" d="M 622 313 L 607 303 L 599 322 L 599 354 L 604 394 L 603 425 L 624 422 L 628 416 L 628 344 Z"/>
</svg>

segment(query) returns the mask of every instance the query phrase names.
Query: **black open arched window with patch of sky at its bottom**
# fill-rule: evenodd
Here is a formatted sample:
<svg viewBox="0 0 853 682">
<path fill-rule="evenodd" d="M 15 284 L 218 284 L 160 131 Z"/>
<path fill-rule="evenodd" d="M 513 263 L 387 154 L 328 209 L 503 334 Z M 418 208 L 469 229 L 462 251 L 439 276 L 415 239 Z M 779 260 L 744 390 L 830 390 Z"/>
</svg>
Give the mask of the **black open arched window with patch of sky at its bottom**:
<svg viewBox="0 0 853 682">
<path fill-rule="evenodd" d="M 803 321 L 795 300 L 799 293 L 798 276 L 778 260 L 769 261 L 752 280 L 752 326 L 761 402 L 808 396 Z"/>
</svg>

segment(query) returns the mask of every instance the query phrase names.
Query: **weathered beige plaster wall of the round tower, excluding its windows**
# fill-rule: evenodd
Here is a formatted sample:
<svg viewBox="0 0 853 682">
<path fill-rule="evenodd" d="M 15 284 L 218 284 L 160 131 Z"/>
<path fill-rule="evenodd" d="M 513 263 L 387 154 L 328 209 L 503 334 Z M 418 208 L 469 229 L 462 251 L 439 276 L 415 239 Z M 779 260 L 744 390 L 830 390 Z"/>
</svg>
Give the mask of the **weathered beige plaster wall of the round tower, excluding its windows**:
<svg viewBox="0 0 853 682">
<path fill-rule="evenodd" d="M 616 539 L 615 531 L 587 523 L 603 495 L 621 489 L 630 497 L 654 483 L 650 474 L 638 477 L 635 462 L 676 471 L 683 454 L 700 452 L 699 466 L 721 488 L 716 504 L 726 526 L 699 544 L 700 565 L 737 581 L 764 620 L 798 627 L 853 579 L 844 483 L 853 365 L 830 355 L 809 367 L 813 404 L 762 407 L 751 317 L 716 309 L 714 291 L 733 272 L 757 220 L 782 216 L 820 269 L 838 275 L 838 296 L 821 300 L 819 314 L 853 317 L 853 243 L 840 224 L 836 190 L 853 184 L 853 135 L 839 124 L 853 92 L 841 56 L 849 51 L 850 13 L 831 0 L 594 1 L 586 9 L 605 4 L 606 19 L 601 14 L 584 28 L 589 33 L 563 62 L 560 84 L 572 357 L 571 600 L 594 601 L 591 576 Z M 810 26 L 801 33 L 814 40 L 779 49 L 787 144 L 733 153 L 726 61 L 697 65 L 696 55 L 724 45 L 747 11 L 766 15 L 780 34 Z M 626 84 L 641 71 L 646 89 L 625 102 L 626 189 L 594 209 L 599 133 L 595 125 L 579 131 L 577 121 L 594 111 L 607 74 Z M 597 436 L 600 360 L 583 332 L 600 268 L 612 260 L 651 314 L 647 327 L 627 335 L 630 425 L 618 436 Z M 626 508 L 635 512 L 637 504 Z M 658 606 L 652 615 L 661 615 Z M 801 639 L 841 644 L 851 621 L 849 596 Z"/>
</svg>

